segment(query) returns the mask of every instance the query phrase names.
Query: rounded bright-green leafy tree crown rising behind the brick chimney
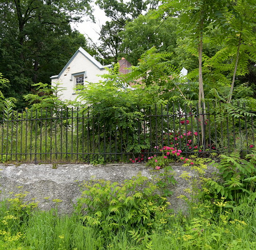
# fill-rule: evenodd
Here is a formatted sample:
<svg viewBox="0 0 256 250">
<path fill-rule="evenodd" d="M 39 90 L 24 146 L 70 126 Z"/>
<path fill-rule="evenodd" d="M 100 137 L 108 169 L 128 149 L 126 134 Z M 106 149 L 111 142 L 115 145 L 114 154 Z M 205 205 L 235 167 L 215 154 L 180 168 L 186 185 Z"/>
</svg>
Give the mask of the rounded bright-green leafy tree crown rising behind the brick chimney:
<svg viewBox="0 0 256 250">
<path fill-rule="evenodd" d="M 128 22 L 122 37 L 122 50 L 125 58 L 136 65 L 140 56 L 148 49 L 155 47 L 161 52 L 174 52 L 177 44 L 176 30 L 178 18 L 152 18 L 154 12 L 140 15 Z M 173 55 L 173 57 L 175 57 Z"/>
</svg>

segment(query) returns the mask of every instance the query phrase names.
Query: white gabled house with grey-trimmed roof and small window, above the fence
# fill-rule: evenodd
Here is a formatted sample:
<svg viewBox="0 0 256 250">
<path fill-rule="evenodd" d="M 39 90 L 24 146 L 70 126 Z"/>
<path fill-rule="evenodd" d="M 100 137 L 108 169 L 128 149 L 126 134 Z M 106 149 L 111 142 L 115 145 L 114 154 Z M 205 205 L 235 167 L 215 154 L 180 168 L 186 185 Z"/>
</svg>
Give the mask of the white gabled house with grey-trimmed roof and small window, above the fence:
<svg viewBox="0 0 256 250">
<path fill-rule="evenodd" d="M 102 78 L 97 75 L 107 73 L 105 67 L 112 67 L 112 65 L 101 65 L 80 47 L 63 67 L 62 71 L 58 75 L 51 77 L 52 86 L 60 83 L 61 87 L 66 88 L 62 91 L 60 99 L 73 101 L 77 97 L 75 87 L 77 85 L 86 85 L 87 82 L 99 82 Z"/>
</svg>

